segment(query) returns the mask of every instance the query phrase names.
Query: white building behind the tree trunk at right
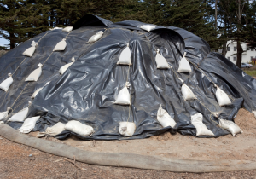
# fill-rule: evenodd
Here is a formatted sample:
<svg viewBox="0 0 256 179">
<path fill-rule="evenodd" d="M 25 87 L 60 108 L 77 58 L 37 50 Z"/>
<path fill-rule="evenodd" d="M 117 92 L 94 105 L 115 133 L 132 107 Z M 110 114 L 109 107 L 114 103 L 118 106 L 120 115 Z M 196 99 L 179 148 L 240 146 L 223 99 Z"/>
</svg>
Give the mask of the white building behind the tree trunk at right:
<svg viewBox="0 0 256 179">
<path fill-rule="evenodd" d="M 256 58 L 255 49 L 250 49 L 247 47 L 247 43 L 241 43 L 241 48 L 245 51 L 241 55 L 241 62 L 248 63 L 251 62 L 252 58 Z M 227 54 L 226 58 L 236 64 L 236 41 L 228 41 L 227 43 Z"/>
</svg>

